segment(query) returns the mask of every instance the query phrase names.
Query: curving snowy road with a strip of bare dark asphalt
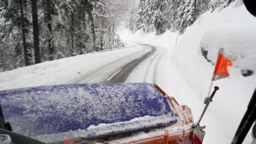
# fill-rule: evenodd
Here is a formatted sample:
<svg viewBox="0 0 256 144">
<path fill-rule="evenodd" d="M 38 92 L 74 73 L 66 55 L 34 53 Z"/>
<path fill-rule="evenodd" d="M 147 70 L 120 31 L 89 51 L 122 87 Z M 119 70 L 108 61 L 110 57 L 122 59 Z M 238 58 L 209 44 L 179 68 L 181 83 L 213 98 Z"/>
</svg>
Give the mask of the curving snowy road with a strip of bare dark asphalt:
<svg viewBox="0 0 256 144">
<path fill-rule="evenodd" d="M 149 82 L 158 83 L 159 75 L 164 72 L 159 65 L 165 63 L 164 47 L 136 43 L 143 49 L 126 56 L 118 56 L 90 70 L 67 83 L 118 83 L 118 82 Z M 164 67 L 164 65 L 162 65 Z"/>
</svg>

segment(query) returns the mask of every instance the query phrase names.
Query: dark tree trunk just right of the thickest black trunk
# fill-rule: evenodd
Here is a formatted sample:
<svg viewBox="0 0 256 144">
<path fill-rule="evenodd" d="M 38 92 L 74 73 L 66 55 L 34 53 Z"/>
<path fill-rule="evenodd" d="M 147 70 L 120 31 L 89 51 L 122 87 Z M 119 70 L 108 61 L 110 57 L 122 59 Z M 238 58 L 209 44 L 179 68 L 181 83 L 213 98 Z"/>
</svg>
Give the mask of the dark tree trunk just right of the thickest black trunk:
<svg viewBox="0 0 256 144">
<path fill-rule="evenodd" d="M 47 20 L 47 28 L 49 30 L 50 36 L 48 40 L 48 49 L 49 49 L 49 55 L 53 55 L 54 53 L 54 46 L 53 46 L 53 28 L 51 25 L 52 17 L 51 17 L 51 11 L 53 10 L 51 5 L 51 0 L 46 0 L 46 20 Z M 53 60 L 53 59 L 51 59 Z"/>
</svg>

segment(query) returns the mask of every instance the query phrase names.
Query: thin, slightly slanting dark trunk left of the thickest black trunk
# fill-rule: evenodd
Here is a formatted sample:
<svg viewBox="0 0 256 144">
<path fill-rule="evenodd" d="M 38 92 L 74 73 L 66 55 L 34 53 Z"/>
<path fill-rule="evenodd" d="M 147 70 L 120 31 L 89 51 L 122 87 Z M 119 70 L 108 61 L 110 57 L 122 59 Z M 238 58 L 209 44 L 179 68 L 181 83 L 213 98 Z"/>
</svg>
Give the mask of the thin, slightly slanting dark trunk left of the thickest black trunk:
<svg viewBox="0 0 256 144">
<path fill-rule="evenodd" d="M 26 34 L 25 34 L 25 25 L 24 25 L 24 11 L 23 11 L 23 2 L 20 0 L 20 14 L 21 14 L 21 31 L 22 31 L 22 39 L 23 39 L 23 49 L 24 49 L 24 58 L 25 58 L 25 65 L 30 65 L 30 61 L 27 56 L 27 46 L 26 46 Z"/>
</svg>

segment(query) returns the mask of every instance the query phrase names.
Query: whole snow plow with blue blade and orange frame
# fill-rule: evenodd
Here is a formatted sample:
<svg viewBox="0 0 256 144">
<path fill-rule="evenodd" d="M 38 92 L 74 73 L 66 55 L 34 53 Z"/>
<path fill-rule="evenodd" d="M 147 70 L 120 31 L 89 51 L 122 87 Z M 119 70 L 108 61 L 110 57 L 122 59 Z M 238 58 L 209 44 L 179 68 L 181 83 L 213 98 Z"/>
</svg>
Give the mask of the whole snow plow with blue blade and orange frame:
<svg viewBox="0 0 256 144">
<path fill-rule="evenodd" d="M 66 144 L 189 144 L 202 143 L 205 135 L 205 127 L 193 127 L 187 105 L 152 83 L 11 89 L 0 91 L 0 103 L 0 134 L 10 135 L 14 143 L 24 143 L 16 140 L 18 134 L 32 138 L 26 143 Z"/>
</svg>

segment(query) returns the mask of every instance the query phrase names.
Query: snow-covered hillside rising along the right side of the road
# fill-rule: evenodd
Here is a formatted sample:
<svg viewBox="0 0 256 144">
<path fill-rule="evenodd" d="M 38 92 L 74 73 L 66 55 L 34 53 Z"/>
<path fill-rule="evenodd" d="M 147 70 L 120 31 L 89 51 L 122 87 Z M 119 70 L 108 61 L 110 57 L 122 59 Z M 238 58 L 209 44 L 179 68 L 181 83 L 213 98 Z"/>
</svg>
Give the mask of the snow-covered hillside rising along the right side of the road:
<svg viewBox="0 0 256 144">
<path fill-rule="evenodd" d="M 170 59 L 166 65 L 165 90 L 179 103 L 189 105 L 195 120 L 203 109 L 214 70 L 214 65 L 202 56 L 201 49 L 208 50 L 207 59 L 213 63 L 220 47 L 236 53 L 238 58 L 235 67 L 229 68 L 230 77 L 214 82 L 220 90 L 201 122 L 206 125 L 205 143 L 231 142 L 256 86 L 256 18 L 241 1 L 231 3 L 220 12 L 202 14 L 183 35 L 166 32 L 155 36 L 141 31 L 131 34 L 126 29 L 119 34 L 126 41 L 139 40 L 168 47 Z M 253 74 L 244 77 L 242 70 L 252 70 Z M 251 141 L 251 135 L 247 135 L 244 143 Z"/>
</svg>

